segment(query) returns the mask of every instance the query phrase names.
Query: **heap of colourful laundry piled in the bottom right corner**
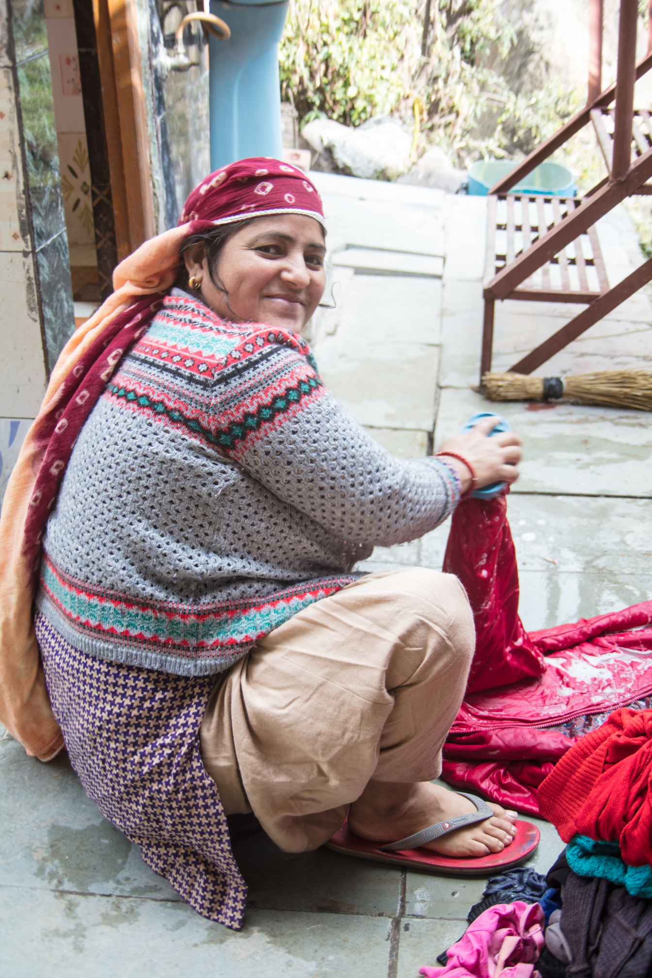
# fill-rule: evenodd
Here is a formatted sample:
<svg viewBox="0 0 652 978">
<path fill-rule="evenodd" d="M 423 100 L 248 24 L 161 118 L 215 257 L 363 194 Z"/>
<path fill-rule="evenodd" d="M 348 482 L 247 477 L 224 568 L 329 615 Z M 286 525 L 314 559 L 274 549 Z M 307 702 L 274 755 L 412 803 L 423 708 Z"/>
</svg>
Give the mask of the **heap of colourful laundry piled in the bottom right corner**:
<svg viewBox="0 0 652 978">
<path fill-rule="evenodd" d="M 490 879 L 469 927 L 426 978 L 652 974 L 652 710 L 616 710 L 539 789 L 566 848 L 545 876 Z"/>
</svg>

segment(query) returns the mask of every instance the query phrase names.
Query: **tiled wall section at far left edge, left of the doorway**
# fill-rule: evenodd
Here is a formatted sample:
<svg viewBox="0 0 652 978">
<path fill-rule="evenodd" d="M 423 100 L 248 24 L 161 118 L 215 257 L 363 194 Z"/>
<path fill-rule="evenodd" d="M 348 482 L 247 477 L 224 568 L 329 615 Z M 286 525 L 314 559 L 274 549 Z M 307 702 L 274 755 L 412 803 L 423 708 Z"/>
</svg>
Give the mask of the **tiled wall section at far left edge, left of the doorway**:
<svg viewBox="0 0 652 978">
<path fill-rule="evenodd" d="M 74 327 L 43 7 L 12 0 L 12 45 L 7 2 L 0 0 L 0 499 L 48 364 Z"/>
</svg>

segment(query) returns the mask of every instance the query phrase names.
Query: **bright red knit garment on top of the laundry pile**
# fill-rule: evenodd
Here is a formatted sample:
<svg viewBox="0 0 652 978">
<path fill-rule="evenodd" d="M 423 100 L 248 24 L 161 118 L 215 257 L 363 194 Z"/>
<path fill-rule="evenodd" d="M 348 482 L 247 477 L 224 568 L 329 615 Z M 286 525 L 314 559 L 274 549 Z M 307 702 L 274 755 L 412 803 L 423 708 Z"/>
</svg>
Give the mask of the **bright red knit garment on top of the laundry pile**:
<svg viewBox="0 0 652 978">
<path fill-rule="evenodd" d="M 652 710 L 616 710 L 557 763 L 539 808 L 564 842 L 618 842 L 628 866 L 652 865 Z"/>
</svg>

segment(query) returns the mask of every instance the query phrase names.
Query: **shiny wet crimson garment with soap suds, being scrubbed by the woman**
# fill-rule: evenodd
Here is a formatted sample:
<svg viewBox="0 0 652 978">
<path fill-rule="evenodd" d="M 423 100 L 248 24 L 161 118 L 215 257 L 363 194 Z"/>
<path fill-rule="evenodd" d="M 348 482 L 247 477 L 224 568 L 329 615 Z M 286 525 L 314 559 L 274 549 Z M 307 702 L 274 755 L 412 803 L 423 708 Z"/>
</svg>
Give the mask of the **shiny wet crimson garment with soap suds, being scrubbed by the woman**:
<svg viewBox="0 0 652 978">
<path fill-rule="evenodd" d="M 476 651 L 442 777 L 521 812 L 577 738 L 544 729 L 652 692 L 652 601 L 527 634 L 504 497 L 463 501 L 444 569 L 464 585 Z"/>
</svg>

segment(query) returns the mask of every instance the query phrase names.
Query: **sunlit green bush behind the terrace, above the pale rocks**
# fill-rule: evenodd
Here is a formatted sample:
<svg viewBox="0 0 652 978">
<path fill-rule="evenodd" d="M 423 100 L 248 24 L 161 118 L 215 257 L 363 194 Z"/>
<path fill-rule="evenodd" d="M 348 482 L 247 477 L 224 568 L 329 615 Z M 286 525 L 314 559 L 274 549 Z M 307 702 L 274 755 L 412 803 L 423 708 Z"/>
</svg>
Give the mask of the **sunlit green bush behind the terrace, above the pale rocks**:
<svg viewBox="0 0 652 978">
<path fill-rule="evenodd" d="M 528 153 L 578 103 L 554 84 L 517 95 L 491 67 L 514 32 L 497 0 L 290 0 L 281 44 L 284 99 L 305 123 L 326 115 L 358 125 L 381 112 L 415 125 L 414 152 L 437 142 L 460 165 Z"/>
</svg>

